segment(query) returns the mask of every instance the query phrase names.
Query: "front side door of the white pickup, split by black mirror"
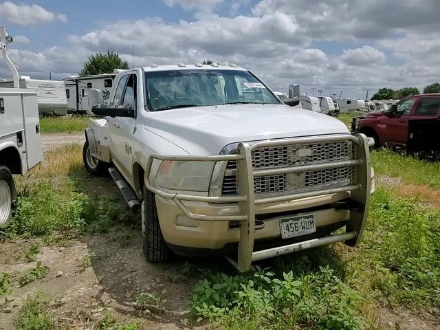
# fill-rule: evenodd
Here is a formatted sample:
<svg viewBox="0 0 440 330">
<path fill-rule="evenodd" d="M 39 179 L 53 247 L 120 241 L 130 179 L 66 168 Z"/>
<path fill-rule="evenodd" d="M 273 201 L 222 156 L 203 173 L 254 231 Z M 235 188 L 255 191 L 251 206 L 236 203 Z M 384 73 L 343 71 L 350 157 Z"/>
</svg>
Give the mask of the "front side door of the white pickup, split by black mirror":
<svg viewBox="0 0 440 330">
<path fill-rule="evenodd" d="M 134 98 L 133 78 L 131 78 L 131 76 L 132 74 L 126 74 L 120 78 L 110 106 L 118 107 L 124 105 L 125 94 L 125 104 L 131 102 L 129 100 Z M 128 83 L 130 83 L 130 85 L 128 86 L 128 91 L 126 91 Z M 109 123 L 111 134 L 111 153 L 113 154 L 113 163 L 115 163 L 122 174 L 127 177 L 127 173 L 129 173 L 129 168 L 131 166 L 131 150 L 127 139 L 130 135 L 133 136 L 135 120 L 134 118 L 108 117 L 107 121 Z"/>
</svg>

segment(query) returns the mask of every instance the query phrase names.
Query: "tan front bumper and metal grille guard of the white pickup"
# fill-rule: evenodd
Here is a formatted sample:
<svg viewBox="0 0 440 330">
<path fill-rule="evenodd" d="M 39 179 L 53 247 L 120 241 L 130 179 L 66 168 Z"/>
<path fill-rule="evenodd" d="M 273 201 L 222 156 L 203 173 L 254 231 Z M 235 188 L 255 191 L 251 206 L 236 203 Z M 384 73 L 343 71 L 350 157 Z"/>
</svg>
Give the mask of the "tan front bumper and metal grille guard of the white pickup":
<svg viewBox="0 0 440 330">
<path fill-rule="evenodd" d="M 283 146 L 291 144 L 326 143 L 349 140 L 357 148 L 357 158 L 320 164 L 295 165 L 274 169 L 254 169 L 251 152 L 256 148 Z M 195 161 L 223 162 L 234 160 L 238 162 L 238 191 L 233 197 L 206 197 L 196 195 L 181 195 L 168 192 L 151 184 L 153 161 Z M 348 186 L 323 188 L 308 192 L 298 192 L 275 197 L 256 197 L 254 193 L 254 177 L 263 175 L 279 175 L 281 173 L 298 173 L 305 170 L 322 170 L 340 166 L 356 166 L 357 181 Z M 286 140 L 269 140 L 257 142 L 250 146 L 239 144 L 236 155 L 219 156 L 163 156 L 151 155 L 146 166 L 145 184 L 148 190 L 155 193 L 157 212 L 164 239 L 172 244 L 189 248 L 221 249 L 227 243 L 238 242 L 236 261 L 230 259 L 240 271 L 250 269 L 252 261 L 286 254 L 306 248 L 325 245 L 336 241 L 345 241 L 347 245 L 359 243 L 366 221 L 371 193 L 371 166 L 369 155 L 369 140 L 363 134 L 356 136 L 323 135 L 316 137 L 296 137 Z M 345 195 L 344 195 L 345 194 Z M 254 242 L 259 239 L 276 238 L 280 236 L 278 219 L 265 221 L 264 228 L 258 221 L 259 214 L 276 214 L 280 210 L 301 212 L 304 208 L 313 208 L 327 203 L 324 199 L 340 201 L 348 198 L 358 204 L 352 210 L 341 210 L 331 206 L 325 210 L 310 210 L 307 214 L 315 214 L 317 228 L 326 223 L 346 225 L 344 234 L 321 236 L 307 241 L 287 245 L 279 245 L 267 250 L 254 250 Z M 322 200 L 320 200 L 322 199 Z M 303 207 L 301 207 L 301 205 Z M 331 201 L 330 204 L 331 205 Z M 239 228 L 230 228 L 230 221 L 239 222 Z"/>
</svg>

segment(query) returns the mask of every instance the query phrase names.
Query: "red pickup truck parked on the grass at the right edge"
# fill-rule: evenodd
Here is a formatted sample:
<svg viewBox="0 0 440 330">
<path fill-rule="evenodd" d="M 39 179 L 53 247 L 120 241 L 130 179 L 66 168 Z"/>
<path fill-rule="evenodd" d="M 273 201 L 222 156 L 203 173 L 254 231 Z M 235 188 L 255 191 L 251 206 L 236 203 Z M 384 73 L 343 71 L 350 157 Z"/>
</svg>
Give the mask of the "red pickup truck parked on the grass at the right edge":
<svg viewBox="0 0 440 330">
<path fill-rule="evenodd" d="M 373 137 L 375 146 L 439 153 L 440 94 L 409 96 L 391 109 L 353 118 L 351 130 Z"/>
</svg>

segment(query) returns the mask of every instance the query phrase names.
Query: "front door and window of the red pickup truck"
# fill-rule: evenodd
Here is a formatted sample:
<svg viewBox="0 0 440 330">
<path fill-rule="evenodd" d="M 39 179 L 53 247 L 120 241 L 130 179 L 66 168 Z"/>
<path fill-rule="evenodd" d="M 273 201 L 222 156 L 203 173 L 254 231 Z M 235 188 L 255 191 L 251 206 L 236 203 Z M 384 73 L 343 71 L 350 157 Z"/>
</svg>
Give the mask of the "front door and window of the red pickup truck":
<svg viewBox="0 0 440 330">
<path fill-rule="evenodd" d="M 408 98 L 397 104 L 397 114 L 384 115 L 377 124 L 379 138 L 386 146 L 406 147 L 408 137 L 408 120 L 415 108 L 417 98 Z"/>
</svg>

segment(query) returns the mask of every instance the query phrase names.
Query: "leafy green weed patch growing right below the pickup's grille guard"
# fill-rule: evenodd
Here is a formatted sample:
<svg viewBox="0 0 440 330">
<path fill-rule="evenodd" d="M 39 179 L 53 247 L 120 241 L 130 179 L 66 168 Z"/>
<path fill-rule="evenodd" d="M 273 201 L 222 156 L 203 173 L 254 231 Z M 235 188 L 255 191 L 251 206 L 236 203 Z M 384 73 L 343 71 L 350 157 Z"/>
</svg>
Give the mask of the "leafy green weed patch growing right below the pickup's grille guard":
<svg viewBox="0 0 440 330">
<path fill-rule="evenodd" d="M 210 274 L 192 297 L 199 320 L 227 329 L 362 329 L 362 297 L 329 267 L 318 272 L 276 276 L 256 269 L 247 275 Z"/>
</svg>

